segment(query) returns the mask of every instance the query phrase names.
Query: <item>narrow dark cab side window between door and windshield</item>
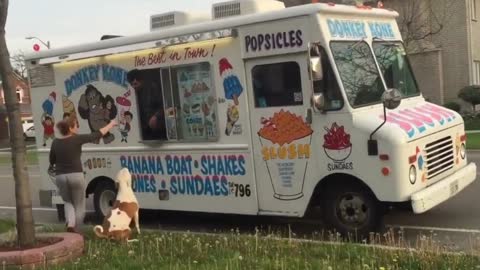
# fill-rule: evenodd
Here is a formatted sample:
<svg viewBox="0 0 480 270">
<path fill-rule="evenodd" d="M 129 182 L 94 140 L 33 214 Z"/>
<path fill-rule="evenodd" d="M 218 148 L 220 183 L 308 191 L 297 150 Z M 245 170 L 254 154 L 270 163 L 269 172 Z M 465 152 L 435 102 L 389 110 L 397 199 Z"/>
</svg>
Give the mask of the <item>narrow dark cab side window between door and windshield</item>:
<svg viewBox="0 0 480 270">
<path fill-rule="evenodd" d="M 343 107 L 343 97 L 338 86 L 337 78 L 333 72 L 332 64 L 328 59 L 325 49 L 318 46 L 320 51 L 320 61 L 322 65 L 323 76 L 321 80 L 313 81 L 313 92 L 316 94 L 322 93 L 325 98 L 325 110 L 336 111 Z M 318 56 L 315 51 L 311 52 L 312 56 Z"/>
</svg>

